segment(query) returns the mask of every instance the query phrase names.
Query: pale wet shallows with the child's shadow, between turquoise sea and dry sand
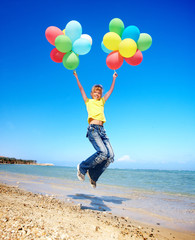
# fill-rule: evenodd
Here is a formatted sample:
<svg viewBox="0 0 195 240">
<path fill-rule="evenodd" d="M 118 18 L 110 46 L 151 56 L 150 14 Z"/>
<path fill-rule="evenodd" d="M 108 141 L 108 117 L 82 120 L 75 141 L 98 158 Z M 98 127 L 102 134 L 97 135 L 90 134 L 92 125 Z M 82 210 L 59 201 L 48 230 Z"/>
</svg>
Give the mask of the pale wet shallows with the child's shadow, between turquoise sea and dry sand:
<svg viewBox="0 0 195 240">
<path fill-rule="evenodd" d="M 135 221 L 195 233 L 194 198 L 135 191 L 98 184 L 91 188 L 88 179 L 59 179 L 0 171 L 0 183 L 19 187 L 34 194 L 82 204 L 83 208 L 104 211 Z"/>
</svg>

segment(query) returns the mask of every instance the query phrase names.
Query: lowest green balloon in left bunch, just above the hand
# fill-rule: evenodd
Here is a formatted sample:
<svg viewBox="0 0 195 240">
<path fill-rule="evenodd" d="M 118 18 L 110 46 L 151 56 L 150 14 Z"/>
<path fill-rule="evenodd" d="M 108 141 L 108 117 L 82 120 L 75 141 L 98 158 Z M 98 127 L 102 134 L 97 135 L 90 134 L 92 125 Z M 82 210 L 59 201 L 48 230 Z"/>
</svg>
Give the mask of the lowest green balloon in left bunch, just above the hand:
<svg viewBox="0 0 195 240">
<path fill-rule="evenodd" d="M 63 57 L 64 67 L 69 70 L 74 70 L 79 65 L 79 57 L 74 52 L 68 52 Z"/>
</svg>

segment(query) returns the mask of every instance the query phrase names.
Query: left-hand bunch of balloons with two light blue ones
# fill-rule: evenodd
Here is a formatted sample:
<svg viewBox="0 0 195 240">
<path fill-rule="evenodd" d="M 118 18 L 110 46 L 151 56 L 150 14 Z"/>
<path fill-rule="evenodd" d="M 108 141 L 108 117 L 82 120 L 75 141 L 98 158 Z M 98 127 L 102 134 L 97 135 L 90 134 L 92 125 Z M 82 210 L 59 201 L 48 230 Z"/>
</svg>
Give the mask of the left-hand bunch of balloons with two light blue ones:
<svg viewBox="0 0 195 240">
<path fill-rule="evenodd" d="M 50 57 L 54 62 L 63 62 L 65 68 L 74 70 L 79 65 L 79 55 L 91 50 L 92 38 L 82 34 L 82 26 L 77 21 L 70 21 L 62 31 L 57 27 L 48 27 L 45 36 L 55 46 Z"/>
</svg>

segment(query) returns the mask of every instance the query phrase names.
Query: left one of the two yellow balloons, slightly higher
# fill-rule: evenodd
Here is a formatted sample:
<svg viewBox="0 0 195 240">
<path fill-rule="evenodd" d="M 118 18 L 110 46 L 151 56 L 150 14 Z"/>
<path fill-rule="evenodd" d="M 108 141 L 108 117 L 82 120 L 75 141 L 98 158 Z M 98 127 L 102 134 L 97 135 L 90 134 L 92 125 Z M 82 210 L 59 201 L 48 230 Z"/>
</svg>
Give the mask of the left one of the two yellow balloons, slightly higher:
<svg viewBox="0 0 195 240">
<path fill-rule="evenodd" d="M 103 43 L 106 48 L 112 51 L 116 51 L 119 48 L 121 38 L 117 33 L 108 32 L 104 35 Z"/>
</svg>

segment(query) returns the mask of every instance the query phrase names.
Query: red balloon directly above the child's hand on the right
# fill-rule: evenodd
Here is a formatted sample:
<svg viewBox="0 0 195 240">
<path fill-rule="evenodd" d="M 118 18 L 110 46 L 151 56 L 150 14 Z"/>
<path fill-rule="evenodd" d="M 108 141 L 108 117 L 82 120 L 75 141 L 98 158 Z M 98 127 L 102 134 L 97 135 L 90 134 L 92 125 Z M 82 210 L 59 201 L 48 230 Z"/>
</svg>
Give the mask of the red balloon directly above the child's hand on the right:
<svg viewBox="0 0 195 240">
<path fill-rule="evenodd" d="M 106 64 L 110 69 L 116 70 L 123 65 L 123 57 L 118 51 L 111 52 L 106 58 Z"/>
</svg>

